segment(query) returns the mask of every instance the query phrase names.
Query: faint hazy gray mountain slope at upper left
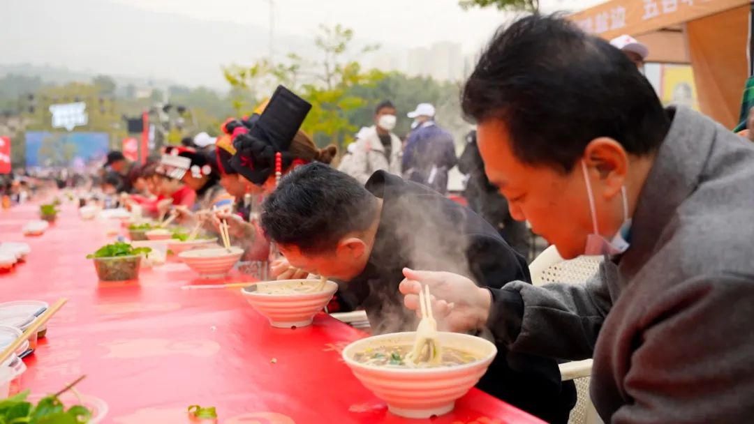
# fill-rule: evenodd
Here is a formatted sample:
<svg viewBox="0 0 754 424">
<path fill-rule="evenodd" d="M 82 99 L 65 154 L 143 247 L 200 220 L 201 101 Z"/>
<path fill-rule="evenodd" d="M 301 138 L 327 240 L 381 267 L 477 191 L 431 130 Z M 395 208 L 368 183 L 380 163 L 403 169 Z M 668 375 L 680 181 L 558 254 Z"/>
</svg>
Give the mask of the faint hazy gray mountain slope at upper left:
<svg viewBox="0 0 754 424">
<path fill-rule="evenodd" d="M 51 78 L 142 75 L 226 88 L 221 66 L 250 63 L 268 49 L 266 29 L 237 23 L 161 14 L 103 0 L 3 3 L 0 63 L 84 70 L 73 75 L 51 72 Z M 298 50 L 311 45 L 311 39 L 280 35 L 280 45 L 287 47 L 286 52 Z"/>
</svg>

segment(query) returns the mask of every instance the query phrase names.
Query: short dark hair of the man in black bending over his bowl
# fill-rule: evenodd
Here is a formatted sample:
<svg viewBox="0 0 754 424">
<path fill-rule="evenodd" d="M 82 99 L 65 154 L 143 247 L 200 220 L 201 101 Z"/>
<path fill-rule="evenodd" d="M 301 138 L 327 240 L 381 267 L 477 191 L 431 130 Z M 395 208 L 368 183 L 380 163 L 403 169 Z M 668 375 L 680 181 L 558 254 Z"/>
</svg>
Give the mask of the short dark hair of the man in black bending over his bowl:
<svg viewBox="0 0 754 424">
<path fill-rule="evenodd" d="M 369 228 L 376 202 L 350 175 L 309 163 L 282 178 L 262 203 L 262 230 L 304 253 L 326 252 L 346 234 Z"/>
</svg>

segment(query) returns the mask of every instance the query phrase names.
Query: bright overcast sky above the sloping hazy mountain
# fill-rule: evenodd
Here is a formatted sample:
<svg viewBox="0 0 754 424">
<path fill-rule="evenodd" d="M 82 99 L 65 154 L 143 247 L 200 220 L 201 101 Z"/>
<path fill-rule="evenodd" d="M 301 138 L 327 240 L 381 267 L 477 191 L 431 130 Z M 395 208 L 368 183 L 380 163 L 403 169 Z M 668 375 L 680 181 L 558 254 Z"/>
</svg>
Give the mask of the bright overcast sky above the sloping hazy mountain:
<svg viewBox="0 0 754 424">
<path fill-rule="evenodd" d="M 108 0 L 202 20 L 231 21 L 268 27 L 270 0 Z M 308 35 L 320 23 L 342 23 L 366 38 L 406 47 L 433 41 L 459 41 L 476 50 L 510 15 L 495 8 L 463 11 L 457 0 L 272 0 L 274 29 Z M 543 0 L 549 11 L 579 9 L 600 0 Z"/>
</svg>

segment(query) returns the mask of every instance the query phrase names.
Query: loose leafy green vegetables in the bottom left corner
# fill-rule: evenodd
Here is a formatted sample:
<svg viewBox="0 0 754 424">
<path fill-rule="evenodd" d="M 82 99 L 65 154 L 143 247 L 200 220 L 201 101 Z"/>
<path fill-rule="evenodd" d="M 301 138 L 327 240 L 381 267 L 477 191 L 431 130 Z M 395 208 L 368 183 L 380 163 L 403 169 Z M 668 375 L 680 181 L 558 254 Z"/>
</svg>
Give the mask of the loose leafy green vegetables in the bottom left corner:
<svg viewBox="0 0 754 424">
<path fill-rule="evenodd" d="M 41 398 L 37 404 L 27 401 L 29 391 L 0 400 L 2 424 L 82 424 L 91 419 L 86 407 L 74 405 L 66 410 L 57 395 Z"/>
</svg>

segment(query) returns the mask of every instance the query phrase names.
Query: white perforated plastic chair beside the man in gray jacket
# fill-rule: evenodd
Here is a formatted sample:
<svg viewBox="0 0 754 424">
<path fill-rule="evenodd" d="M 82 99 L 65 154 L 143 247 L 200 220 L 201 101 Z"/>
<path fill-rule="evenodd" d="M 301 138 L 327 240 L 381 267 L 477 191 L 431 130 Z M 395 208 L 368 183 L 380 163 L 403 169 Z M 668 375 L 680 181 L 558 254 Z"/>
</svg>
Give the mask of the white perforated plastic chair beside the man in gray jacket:
<svg viewBox="0 0 754 424">
<path fill-rule="evenodd" d="M 580 256 L 566 261 L 560 256 L 555 246 L 550 246 L 532 261 L 529 265 L 529 272 L 532 274 L 534 285 L 552 282 L 581 284 L 597 273 L 600 262 L 602 262 L 601 256 Z M 576 406 L 571 411 L 569 424 L 602 422 L 589 397 L 592 360 L 566 362 L 559 365 L 559 368 L 562 381 L 573 380 L 576 383 Z"/>
</svg>

